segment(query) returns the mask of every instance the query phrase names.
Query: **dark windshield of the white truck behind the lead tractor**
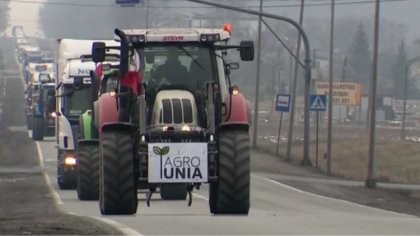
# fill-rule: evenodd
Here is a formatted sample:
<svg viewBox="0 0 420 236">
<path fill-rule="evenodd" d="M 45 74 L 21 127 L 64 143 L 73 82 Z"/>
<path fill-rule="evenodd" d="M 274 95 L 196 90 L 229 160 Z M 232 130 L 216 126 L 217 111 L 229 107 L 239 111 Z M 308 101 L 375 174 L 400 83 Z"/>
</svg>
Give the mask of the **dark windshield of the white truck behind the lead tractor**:
<svg viewBox="0 0 420 236">
<path fill-rule="evenodd" d="M 89 88 L 74 90 L 73 85 L 64 86 L 63 97 L 64 114 L 66 116 L 80 116 L 87 109 L 90 109 L 92 95 Z"/>
</svg>

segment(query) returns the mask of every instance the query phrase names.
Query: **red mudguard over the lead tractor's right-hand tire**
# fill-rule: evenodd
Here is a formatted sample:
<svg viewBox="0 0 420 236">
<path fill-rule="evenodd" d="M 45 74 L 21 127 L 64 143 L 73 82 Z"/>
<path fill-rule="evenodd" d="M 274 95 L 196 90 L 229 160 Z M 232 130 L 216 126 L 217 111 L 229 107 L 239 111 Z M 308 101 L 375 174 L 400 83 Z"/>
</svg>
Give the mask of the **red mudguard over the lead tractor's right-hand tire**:
<svg viewBox="0 0 420 236">
<path fill-rule="evenodd" d="M 223 115 L 222 126 L 240 125 L 247 128 L 250 126 L 251 112 L 248 107 L 248 102 L 242 93 L 232 96 L 228 94 L 225 104 L 226 114 Z"/>
</svg>

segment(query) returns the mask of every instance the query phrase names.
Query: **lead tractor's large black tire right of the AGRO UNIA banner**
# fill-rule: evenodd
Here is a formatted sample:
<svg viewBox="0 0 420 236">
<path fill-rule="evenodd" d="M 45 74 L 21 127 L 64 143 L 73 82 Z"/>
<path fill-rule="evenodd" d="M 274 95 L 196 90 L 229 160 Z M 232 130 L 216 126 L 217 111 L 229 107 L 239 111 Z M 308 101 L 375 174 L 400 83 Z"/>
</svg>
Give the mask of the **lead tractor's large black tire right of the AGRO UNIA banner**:
<svg viewBox="0 0 420 236">
<path fill-rule="evenodd" d="M 220 131 L 219 179 L 210 184 L 213 214 L 246 215 L 250 206 L 250 148 L 245 130 Z"/>
</svg>

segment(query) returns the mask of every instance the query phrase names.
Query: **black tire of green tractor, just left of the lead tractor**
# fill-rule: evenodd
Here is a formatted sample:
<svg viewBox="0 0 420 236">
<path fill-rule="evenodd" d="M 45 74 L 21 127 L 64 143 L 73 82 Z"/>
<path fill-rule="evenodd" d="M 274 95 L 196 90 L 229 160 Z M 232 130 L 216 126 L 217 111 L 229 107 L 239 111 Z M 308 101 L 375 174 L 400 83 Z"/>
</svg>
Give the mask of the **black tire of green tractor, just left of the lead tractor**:
<svg viewBox="0 0 420 236">
<path fill-rule="evenodd" d="M 77 196 L 79 200 L 98 200 L 99 144 L 79 143 L 77 161 Z"/>
</svg>

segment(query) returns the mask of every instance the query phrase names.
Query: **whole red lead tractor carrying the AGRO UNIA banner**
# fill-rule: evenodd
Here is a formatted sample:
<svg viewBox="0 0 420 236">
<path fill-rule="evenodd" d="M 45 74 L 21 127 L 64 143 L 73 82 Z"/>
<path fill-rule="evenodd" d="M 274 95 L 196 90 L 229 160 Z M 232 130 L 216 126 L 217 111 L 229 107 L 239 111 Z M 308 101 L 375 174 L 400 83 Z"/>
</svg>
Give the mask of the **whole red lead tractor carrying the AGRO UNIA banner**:
<svg viewBox="0 0 420 236">
<path fill-rule="evenodd" d="M 209 183 L 210 212 L 248 214 L 250 207 L 250 111 L 231 86 L 237 63 L 254 58 L 254 44 L 228 45 L 224 29 L 115 30 L 119 47 L 95 42 L 103 62 L 120 50 L 117 86 L 99 101 L 99 205 L 102 214 L 134 214 L 139 185 L 179 186 L 188 193 Z M 101 110 L 101 107 L 103 110 Z M 101 120 L 106 109 L 115 120 Z M 173 191 L 173 193 L 179 193 Z"/>
</svg>

